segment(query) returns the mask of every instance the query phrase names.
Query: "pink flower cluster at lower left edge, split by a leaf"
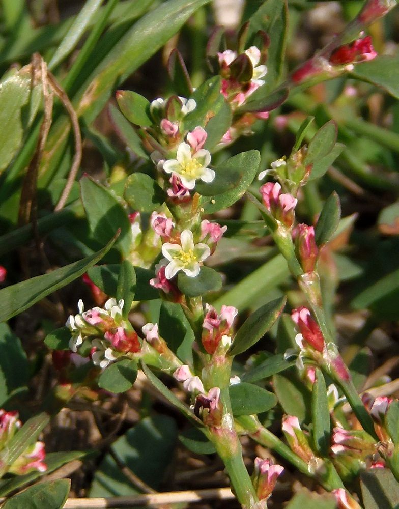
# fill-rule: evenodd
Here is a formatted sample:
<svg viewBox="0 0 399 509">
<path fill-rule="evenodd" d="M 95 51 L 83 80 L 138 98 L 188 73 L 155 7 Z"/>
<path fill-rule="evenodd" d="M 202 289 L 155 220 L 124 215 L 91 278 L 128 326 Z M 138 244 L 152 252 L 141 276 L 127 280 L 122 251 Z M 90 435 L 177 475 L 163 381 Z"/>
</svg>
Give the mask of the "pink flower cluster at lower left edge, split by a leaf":
<svg viewBox="0 0 399 509">
<path fill-rule="evenodd" d="M 18 412 L 6 412 L 0 409 L 0 450 L 6 449 L 21 427 L 18 419 Z M 30 472 L 45 472 L 47 465 L 45 460 L 43 442 L 35 442 L 26 447 L 23 453 L 7 468 L 7 471 L 17 475 L 24 475 Z"/>
</svg>

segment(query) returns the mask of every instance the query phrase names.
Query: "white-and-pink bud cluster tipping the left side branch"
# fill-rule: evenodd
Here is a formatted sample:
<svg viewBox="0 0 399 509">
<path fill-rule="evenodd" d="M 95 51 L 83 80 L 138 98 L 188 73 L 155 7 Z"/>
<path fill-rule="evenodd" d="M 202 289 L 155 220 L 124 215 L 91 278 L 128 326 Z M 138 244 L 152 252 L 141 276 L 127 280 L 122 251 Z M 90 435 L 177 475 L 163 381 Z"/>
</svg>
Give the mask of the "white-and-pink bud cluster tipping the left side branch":
<svg viewBox="0 0 399 509">
<path fill-rule="evenodd" d="M 79 300 L 77 315 L 70 315 L 66 326 L 71 331 L 69 347 L 72 352 L 87 341 L 91 347 L 93 363 L 101 368 L 126 353 L 140 350 L 138 336 L 129 322 L 122 319 L 124 302 L 108 299 L 104 308 L 84 311 Z"/>
</svg>

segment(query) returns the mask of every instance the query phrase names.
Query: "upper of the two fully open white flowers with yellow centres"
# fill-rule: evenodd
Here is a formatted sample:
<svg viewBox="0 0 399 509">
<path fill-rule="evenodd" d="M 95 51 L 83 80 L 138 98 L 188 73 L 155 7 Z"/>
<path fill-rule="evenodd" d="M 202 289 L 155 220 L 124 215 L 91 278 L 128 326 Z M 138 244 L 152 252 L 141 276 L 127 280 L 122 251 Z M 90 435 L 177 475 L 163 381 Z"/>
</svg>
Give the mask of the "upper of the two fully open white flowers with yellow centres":
<svg viewBox="0 0 399 509">
<path fill-rule="evenodd" d="M 211 162 L 211 154 L 208 150 L 200 149 L 192 155 L 188 143 L 181 143 L 177 149 L 176 157 L 176 159 L 165 161 L 163 170 L 166 173 L 177 175 L 187 189 L 194 189 L 197 179 L 209 183 L 215 178 L 213 169 L 208 168 L 208 164 Z"/>
</svg>

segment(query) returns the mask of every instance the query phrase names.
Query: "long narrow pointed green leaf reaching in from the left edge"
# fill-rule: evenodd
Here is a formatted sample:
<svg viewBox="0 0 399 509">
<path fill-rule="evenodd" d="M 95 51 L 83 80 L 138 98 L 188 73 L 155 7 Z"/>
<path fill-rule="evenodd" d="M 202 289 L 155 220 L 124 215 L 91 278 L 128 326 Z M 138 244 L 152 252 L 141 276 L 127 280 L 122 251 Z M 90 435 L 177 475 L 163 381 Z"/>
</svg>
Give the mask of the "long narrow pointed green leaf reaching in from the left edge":
<svg viewBox="0 0 399 509">
<path fill-rule="evenodd" d="M 115 238 L 100 251 L 48 274 L 32 277 L 0 290 L 0 322 L 5 322 L 56 290 L 68 285 L 99 262 L 115 242 Z"/>
</svg>

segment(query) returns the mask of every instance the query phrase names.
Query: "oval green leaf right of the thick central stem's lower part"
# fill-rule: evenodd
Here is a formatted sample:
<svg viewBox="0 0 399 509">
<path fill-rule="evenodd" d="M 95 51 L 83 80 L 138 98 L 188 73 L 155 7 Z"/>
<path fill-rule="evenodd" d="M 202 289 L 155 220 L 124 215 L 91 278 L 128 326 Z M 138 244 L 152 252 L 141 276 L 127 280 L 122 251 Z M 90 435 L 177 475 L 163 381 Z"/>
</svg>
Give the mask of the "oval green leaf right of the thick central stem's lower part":
<svg viewBox="0 0 399 509">
<path fill-rule="evenodd" d="M 251 383 L 241 382 L 229 387 L 232 412 L 235 416 L 267 412 L 277 405 L 273 392 Z"/>
</svg>

